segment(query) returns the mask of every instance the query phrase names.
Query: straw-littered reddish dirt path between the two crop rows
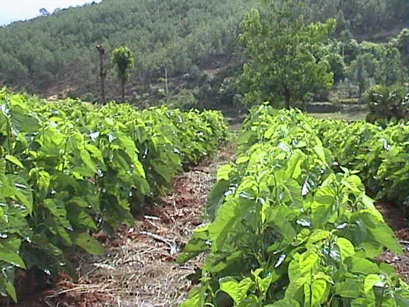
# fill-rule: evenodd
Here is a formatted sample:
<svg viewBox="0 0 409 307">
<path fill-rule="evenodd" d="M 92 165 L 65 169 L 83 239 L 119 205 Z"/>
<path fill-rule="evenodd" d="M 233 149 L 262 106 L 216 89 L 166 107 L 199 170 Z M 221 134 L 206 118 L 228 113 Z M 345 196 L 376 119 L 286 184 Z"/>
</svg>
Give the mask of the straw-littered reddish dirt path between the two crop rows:
<svg viewBox="0 0 409 307">
<path fill-rule="evenodd" d="M 186 277 L 195 272 L 200 259 L 183 266 L 174 260 L 192 230 L 206 222 L 203 212 L 214 175 L 234 152 L 229 144 L 180 173 L 162 204 L 147 208 L 135 227 L 123 227 L 115 239 L 105 238 L 104 256 L 78 257 L 78 283 L 60 281 L 54 290 L 20 301 L 18 306 L 177 306 L 190 288 Z"/>
</svg>

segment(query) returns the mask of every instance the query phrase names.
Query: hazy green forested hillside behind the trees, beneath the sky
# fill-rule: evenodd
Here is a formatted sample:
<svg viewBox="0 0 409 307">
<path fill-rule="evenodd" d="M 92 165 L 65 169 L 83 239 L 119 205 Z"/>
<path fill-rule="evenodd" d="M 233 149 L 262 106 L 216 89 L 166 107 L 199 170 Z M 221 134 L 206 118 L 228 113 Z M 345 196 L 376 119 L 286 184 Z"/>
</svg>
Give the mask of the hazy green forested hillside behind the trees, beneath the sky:
<svg viewBox="0 0 409 307">
<path fill-rule="evenodd" d="M 0 28 L 0 85 L 40 94 L 64 89 L 97 94 L 100 43 L 108 54 L 118 46 L 132 50 L 135 68 L 128 94 L 135 84 L 146 86 L 163 77 L 165 68 L 170 78 L 215 70 L 233 60 L 243 13 L 257 3 L 103 0 L 13 23 Z M 338 33 L 348 28 L 367 38 L 403 27 L 406 4 L 406 0 L 309 0 L 305 10 L 311 20 L 335 17 Z M 110 69 L 111 97 L 116 95 L 114 78 Z"/>
</svg>

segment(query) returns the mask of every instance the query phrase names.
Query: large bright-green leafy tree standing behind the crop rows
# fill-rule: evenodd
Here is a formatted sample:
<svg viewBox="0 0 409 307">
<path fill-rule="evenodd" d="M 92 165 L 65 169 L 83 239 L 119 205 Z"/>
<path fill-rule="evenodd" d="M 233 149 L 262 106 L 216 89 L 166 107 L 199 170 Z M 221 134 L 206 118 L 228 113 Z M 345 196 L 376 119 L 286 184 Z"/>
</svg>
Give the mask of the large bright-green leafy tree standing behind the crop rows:
<svg viewBox="0 0 409 307">
<path fill-rule="evenodd" d="M 298 1 L 264 4 L 265 14 L 253 9 L 241 24 L 240 41 L 248 59 L 240 77 L 244 103 L 284 102 L 289 108 L 314 90 L 329 89 L 333 74 L 323 42 L 335 29 L 335 20 L 305 25 Z"/>
</svg>

